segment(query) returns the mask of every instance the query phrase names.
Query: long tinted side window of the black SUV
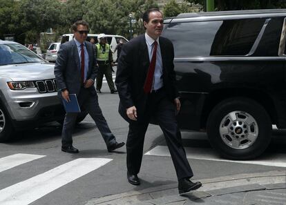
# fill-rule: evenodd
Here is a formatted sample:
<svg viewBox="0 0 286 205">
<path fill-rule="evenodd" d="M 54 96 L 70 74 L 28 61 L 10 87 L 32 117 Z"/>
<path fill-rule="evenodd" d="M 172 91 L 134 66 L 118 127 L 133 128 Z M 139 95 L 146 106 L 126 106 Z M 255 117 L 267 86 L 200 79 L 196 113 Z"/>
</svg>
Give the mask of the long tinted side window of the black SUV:
<svg viewBox="0 0 286 205">
<path fill-rule="evenodd" d="M 175 57 L 247 55 L 264 22 L 238 19 L 171 23 L 164 36 L 173 41 Z"/>
</svg>

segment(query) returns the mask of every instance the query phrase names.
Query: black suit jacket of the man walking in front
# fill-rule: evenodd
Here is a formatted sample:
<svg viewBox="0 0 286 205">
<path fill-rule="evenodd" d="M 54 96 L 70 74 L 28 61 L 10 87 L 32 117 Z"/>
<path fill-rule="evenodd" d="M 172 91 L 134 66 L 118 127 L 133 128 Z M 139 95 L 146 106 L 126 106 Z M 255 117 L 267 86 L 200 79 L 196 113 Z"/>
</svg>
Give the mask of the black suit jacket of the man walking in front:
<svg viewBox="0 0 286 205">
<path fill-rule="evenodd" d="M 175 89 L 175 71 L 173 65 L 173 43 L 169 39 L 159 37 L 163 64 L 163 84 L 167 97 L 173 102 L 178 97 Z M 149 70 L 149 54 L 145 35 L 140 35 L 124 43 L 118 59 L 115 84 L 120 96 L 119 113 L 126 121 L 131 122 L 126 115 L 126 109 L 135 106 L 138 120 L 144 117 L 148 95 L 143 87 Z"/>
</svg>

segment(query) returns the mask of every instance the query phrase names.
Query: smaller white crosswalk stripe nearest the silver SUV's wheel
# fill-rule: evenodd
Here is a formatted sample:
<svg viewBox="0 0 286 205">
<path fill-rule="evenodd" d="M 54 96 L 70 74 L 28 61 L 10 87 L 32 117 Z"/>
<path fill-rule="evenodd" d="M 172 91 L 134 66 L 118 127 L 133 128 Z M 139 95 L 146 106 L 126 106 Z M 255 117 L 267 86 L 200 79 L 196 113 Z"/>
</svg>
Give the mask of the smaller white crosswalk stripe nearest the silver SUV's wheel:
<svg viewBox="0 0 286 205">
<path fill-rule="evenodd" d="M 0 158 L 0 173 L 15 166 L 31 162 L 35 159 L 46 157 L 45 155 L 15 154 Z"/>
</svg>

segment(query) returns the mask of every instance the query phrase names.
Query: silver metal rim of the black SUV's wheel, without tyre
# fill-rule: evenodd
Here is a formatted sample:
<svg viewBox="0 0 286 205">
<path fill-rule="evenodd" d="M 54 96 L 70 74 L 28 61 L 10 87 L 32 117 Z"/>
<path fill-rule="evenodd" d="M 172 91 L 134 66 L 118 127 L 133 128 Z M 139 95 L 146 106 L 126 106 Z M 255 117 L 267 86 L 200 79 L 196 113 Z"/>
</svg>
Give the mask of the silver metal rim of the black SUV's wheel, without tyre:
<svg viewBox="0 0 286 205">
<path fill-rule="evenodd" d="M 258 124 L 249 113 L 233 111 L 222 118 L 220 137 L 231 148 L 249 148 L 258 137 Z"/>
</svg>

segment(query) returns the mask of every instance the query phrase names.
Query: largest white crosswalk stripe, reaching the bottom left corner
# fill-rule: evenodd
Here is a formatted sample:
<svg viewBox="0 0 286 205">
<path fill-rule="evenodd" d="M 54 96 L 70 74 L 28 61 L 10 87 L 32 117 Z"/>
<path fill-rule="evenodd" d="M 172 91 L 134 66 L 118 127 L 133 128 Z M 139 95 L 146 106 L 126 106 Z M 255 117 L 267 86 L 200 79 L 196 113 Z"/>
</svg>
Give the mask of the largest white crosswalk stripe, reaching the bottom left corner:
<svg viewBox="0 0 286 205">
<path fill-rule="evenodd" d="M 79 158 L 0 191 L 1 205 L 26 205 L 104 166 L 112 159 Z"/>
</svg>

